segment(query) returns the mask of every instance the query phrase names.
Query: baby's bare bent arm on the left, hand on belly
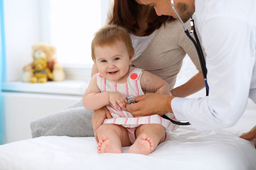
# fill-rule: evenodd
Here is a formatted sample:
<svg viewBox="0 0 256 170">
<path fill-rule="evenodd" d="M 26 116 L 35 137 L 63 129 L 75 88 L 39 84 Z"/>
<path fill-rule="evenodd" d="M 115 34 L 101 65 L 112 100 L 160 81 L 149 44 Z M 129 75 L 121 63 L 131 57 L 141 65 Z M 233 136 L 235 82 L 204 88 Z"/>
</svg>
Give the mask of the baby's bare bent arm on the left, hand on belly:
<svg viewBox="0 0 256 170">
<path fill-rule="evenodd" d="M 125 108 L 127 103 L 125 97 L 118 92 L 100 92 L 97 86 L 97 74 L 92 76 L 92 79 L 83 96 L 84 108 L 87 110 L 97 110 L 112 103 L 115 108 Z"/>
</svg>

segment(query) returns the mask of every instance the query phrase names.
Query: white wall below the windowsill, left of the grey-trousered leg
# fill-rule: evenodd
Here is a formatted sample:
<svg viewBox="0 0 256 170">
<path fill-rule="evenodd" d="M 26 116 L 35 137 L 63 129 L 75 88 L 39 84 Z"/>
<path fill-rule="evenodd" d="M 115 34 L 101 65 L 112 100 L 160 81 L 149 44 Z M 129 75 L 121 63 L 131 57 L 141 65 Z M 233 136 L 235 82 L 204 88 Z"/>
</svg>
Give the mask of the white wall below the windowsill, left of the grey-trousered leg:
<svg viewBox="0 0 256 170">
<path fill-rule="evenodd" d="M 3 143 L 31 138 L 30 122 L 63 110 L 82 96 L 2 92 Z"/>
</svg>

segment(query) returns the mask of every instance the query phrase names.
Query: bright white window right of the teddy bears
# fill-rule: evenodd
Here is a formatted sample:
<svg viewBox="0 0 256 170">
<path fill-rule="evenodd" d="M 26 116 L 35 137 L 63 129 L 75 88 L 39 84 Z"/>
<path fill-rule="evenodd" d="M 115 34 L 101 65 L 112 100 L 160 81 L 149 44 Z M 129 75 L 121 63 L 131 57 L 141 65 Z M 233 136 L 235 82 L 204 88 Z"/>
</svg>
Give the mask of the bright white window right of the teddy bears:
<svg viewBox="0 0 256 170">
<path fill-rule="evenodd" d="M 105 23 L 110 0 L 50 0 L 50 43 L 57 47 L 58 61 L 92 65 L 91 41 Z"/>
</svg>

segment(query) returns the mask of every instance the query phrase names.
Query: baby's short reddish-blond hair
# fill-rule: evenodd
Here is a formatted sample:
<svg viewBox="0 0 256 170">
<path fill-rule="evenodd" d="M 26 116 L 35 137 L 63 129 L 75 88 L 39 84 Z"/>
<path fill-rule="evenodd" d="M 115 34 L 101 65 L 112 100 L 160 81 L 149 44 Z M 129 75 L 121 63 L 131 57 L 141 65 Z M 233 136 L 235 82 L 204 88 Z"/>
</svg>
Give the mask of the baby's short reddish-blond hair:
<svg viewBox="0 0 256 170">
<path fill-rule="evenodd" d="M 113 46 L 118 40 L 125 44 L 131 59 L 134 55 L 134 48 L 132 46 L 132 40 L 129 32 L 121 26 L 105 25 L 95 33 L 94 38 L 92 39 L 92 60 L 96 62 L 94 54 L 95 46 Z"/>
</svg>

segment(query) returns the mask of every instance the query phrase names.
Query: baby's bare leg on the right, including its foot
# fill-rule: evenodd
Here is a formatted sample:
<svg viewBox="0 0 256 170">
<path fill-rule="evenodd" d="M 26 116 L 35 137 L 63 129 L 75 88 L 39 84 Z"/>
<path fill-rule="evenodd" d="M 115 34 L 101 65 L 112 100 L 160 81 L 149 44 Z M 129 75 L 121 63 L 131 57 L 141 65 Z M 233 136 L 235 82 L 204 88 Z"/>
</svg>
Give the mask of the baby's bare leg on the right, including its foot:
<svg viewBox="0 0 256 170">
<path fill-rule="evenodd" d="M 128 153 L 147 155 L 164 142 L 165 129 L 161 124 L 142 124 L 136 129 L 136 140 Z"/>
</svg>

